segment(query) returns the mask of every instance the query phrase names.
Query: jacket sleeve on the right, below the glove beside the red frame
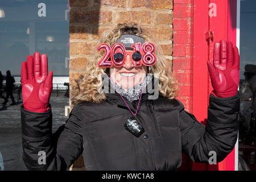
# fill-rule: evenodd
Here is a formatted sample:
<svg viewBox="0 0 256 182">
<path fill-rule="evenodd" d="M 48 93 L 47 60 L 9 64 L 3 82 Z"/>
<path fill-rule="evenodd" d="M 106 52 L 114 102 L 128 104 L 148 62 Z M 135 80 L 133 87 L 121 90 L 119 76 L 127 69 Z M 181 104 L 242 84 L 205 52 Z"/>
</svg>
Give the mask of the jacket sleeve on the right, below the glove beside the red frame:
<svg viewBox="0 0 256 182">
<path fill-rule="evenodd" d="M 239 109 L 239 94 L 228 98 L 217 98 L 210 94 L 206 127 L 194 115 L 181 110 L 183 152 L 193 162 L 208 163 L 213 152 L 216 152 L 217 162 L 224 160 L 237 141 Z"/>
</svg>

